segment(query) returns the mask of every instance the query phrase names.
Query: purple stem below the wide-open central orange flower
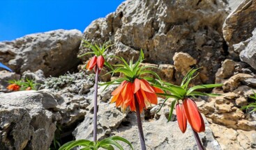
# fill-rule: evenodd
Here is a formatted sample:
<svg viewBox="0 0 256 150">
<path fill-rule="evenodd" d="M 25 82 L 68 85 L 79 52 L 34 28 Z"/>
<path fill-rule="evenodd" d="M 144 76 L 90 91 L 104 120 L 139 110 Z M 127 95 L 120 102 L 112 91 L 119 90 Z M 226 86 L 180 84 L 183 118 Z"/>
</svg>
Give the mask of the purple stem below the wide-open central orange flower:
<svg viewBox="0 0 256 150">
<path fill-rule="evenodd" d="M 143 129 L 142 129 L 142 119 L 140 118 L 140 106 L 137 101 L 136 95 L 134 95 L 134 98 L 135 98 L 137 125 L 138 125 L 138 130 L 139 130 L 139 135 L 140 135 L 140 145 L 142 147 L 142 150 L 146 150 L 145 139 L 144 139 L 144 134 L 143 134 Z"/>
</svg>

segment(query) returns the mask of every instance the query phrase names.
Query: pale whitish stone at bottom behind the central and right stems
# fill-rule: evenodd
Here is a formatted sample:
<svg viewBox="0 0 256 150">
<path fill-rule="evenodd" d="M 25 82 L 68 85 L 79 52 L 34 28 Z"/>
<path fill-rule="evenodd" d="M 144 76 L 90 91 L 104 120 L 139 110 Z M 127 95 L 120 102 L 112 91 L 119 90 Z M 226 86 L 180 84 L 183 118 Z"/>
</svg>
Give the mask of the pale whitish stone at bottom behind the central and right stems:
<svg viewBox="0 0 256 150">
<path fill-rule="evenodd" d="M 132 142 L 134 149 L 140 149 L 135 114 L 129 114 L 127 119 L 126 122 L 130 122 L 131 126 L 120 126 L 119 130 L 113 132 L 113 135 L 126 138 Z M 189 125 L 186 134 L 183 134 L 179 130 L 178 123 L 167 122 L 165 115 L 161 115 L 158 120 L 142 122 L 142 125 L 147 149 L 197 149 L 197 144 Z M 206 131 L 199 133 L 199 137 L 206 149 L 220 149 L 218 142 L 214 140 L 211 134 L 211 129 L 207 122 Z M 129 149 L 126 144 L 122 143 L 122 145 L 124 149 Z"/>
</svg>

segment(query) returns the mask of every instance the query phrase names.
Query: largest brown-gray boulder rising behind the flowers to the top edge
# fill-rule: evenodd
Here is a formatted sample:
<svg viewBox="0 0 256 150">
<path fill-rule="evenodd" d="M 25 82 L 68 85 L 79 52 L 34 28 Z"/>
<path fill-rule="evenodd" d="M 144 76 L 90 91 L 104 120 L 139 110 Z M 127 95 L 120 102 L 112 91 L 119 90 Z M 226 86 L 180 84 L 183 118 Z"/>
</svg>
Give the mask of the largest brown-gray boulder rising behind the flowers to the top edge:
<svg viewBox="0 0 256 150">
<path fill-rule="evenodd" d="M 227 12 L 223 1 L 128 0 L 116 12 L 92 22 L 83 38 L 102 44 L 112 40 L 110 53 L 137 58 L 144 50 L 146 63 L 173 64 L 176 52 L 188 53 L 204 67 L 203 83 L 213 83 L 225 58 L 221 28 Z M 80 54 L 89 51 L 80 47 Z M 88 57 L 82 58 L 88 60 Z M 111 63 L 116 59 L 110 58 Z"/>
</svg>

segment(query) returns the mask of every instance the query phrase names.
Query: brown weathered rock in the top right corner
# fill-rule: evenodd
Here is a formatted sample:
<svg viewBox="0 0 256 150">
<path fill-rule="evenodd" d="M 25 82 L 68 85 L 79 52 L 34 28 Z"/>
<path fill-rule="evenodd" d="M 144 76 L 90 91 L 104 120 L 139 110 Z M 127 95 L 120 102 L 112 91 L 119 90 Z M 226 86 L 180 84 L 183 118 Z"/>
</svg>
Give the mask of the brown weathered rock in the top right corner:
<svg viewBox="0 0 256 150">
<path fill-rule="evenodd" d="M 240 5 L 229 14 L 223 24 L 223 36 L 229 45 L 229 53 L 237 56 L 233 44 L 245 41 L 252 36 L 256 27 L 256 1 L 243 0 Z"/>
</svg>

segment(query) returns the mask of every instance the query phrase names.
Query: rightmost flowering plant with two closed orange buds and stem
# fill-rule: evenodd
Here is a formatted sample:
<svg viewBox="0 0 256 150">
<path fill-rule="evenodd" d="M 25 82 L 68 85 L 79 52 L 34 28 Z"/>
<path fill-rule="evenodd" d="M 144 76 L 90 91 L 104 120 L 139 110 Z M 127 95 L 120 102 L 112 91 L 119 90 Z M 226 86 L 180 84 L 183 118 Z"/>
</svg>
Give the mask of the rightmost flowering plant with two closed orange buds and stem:
<svg viewBox="0 0 256 150">
<path fill-rule="evenodd" d="M 198 68 L 199 69 L 199 68 Z M 198 92 L 197 90 L 206 89 L 206 88 L 216 88 L 222 86 L 222 84 L 208 84 L 208 85 L 195 85 L 189 88 L 190 81 L 195 78 L 193 75 L 197 72 L 198 69 L 190 69 L 190 71 L 186 74 L 183 78 L 181 85 L 173 85 L 171 83 L 167 83 L 161 81 L 163 85 L 155 85 L 157 88 L 165 90 L 165 93 L 158 93 L 167 98 L 174 98 L 172 101 L 172 105 L 170 108 L 170 115 L 168 118 L 168 122 L 172 118 L 172 113 L 174 107 L 176 106 L 176 117 L 179 124 L 179 128 L 181 129 L 182 133 L 186 132 L 187 122 L 190 124 L 191 128 L 193 129 L 193 133 L 195 136 L 195 140 L 197 142 L 198 148 L 200 150 L 204 149 L 202 146 L 201 141 L 199 140 L 198 133 L 205 131 L 205 124 L 202 115 L 199 113 L 197 105 L 193 99 L 196 99 L 197 96 L 210 96 L 216 97 L 220 94 L 209 94 L 204 92 Z M 165 99 L 167 101 L 167 99 Z M 165 103 L 164 101 L 164 103 Z M 162 105 L 163 106 L 163 105 Z M 160 108 L 162 108 L 162 106 Z"/>
</svg>

